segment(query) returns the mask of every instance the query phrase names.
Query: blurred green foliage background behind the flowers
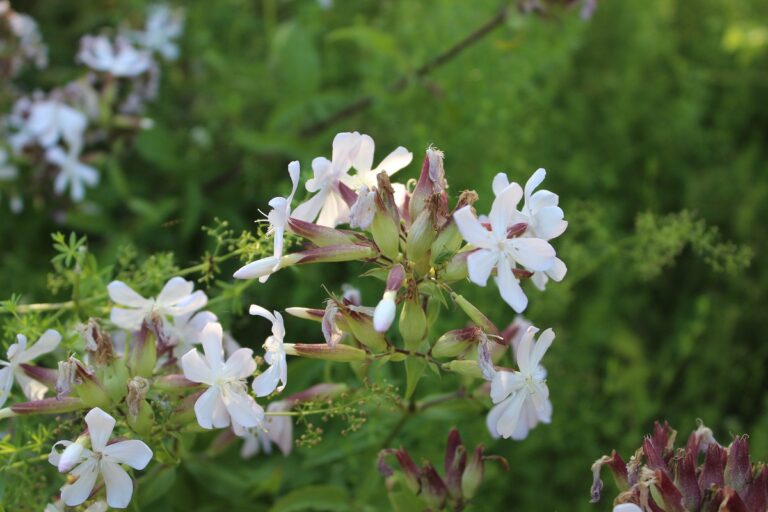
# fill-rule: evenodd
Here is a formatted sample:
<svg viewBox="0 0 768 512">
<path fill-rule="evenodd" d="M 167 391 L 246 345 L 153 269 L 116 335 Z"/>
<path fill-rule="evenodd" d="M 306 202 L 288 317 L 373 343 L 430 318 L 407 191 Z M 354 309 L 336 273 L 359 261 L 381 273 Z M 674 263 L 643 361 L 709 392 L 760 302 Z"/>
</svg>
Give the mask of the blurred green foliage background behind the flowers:
<svg viewBox="0 0 768 512">
<path fill-rule="evenodd" d="M 80 36 L 140 20 L 146 5 L 14 2 L 38 20 L 50 48 L 50 68 L 25 79 L 47 89 L 76 76 Z M 721 441 L 749 433 L 753 457 L 768 458 L 766 2 L 603 0 L 591 19 L 578 8 L 544 15 L 513 8 L 501 27 L 394 92 L 389 84 L 505 2 L 183 5 L 181 59 L 164 66 L 148 112 L 155 127 L 102 169 L 85 205 L 62 205 L 41 191 L 20 215 L 0 213 L 0 295 L 56 300 L 46 279 L 56 230 L 87 235 L 103 264 L 126 246 L 194 263 L 207 243 L 201 226 L 218 217 L 250 229 L 258 210 L 288 190 L 288 161 L 299 159 L 308 172 L 340 131 L 370 134 L 377 160 L 398 145 L 412 150 L 404 178 L 416 177 L 423 150 L 435 144 L 446 153 L 452 191 L 477 190 L 481 210 L 494 174 L 524 181 L 545 167 L 547 188 L 560 194 L 570 221 L 556 243 L 569 274 L 546 293 L 529 288 L 526 316 L 557 332 L 545 361 L 553 423 L 524 442 L 493 441 L 482 410 L 435 408 L 408 422 L 393 444 L 417 460 L 439 460 L 456 425 L 469 444 L 504 455 L 510 470 L 489 470 L 477 510 L 608 510 L 610 497 L 588 503 L 592 461 L 612 448 L 629 456 L 654 419 L 668 419 L 683 436 L 697 419 Z M 370 108 L 302 134 L 369 95 Z M 321 284 L 338 290 L 344 282 L 359 284 L 366 302 L 377 300 L 379 283 L 353 279 L 355 271 L 286 272 L 252 287 L 243 303 L 317 305 Z M 464 289 L 497 324 L 513 319 L 495 289 Z M 229 304 L 216 312 L 238 340 L 260 345 L 264 326 Z M 289 322 L 294 339 L 318 341 L 313 327 Z M 291 390 L 324 371 L 295 363 Z M 432 380 L 435 389 L 449 385 Z M 291 493 L 323 485 L 329 502 L 313 497 L 317 507 L 386 510 L 375 455 L 397 419 L 371 418 L 345 438 L 331 423 L 321 444 L 288 459 L 243 462 L 236 450 L 193 458 L 159 475 L 137 507 L 300 510 L 301 494 Z"/>
</svg>

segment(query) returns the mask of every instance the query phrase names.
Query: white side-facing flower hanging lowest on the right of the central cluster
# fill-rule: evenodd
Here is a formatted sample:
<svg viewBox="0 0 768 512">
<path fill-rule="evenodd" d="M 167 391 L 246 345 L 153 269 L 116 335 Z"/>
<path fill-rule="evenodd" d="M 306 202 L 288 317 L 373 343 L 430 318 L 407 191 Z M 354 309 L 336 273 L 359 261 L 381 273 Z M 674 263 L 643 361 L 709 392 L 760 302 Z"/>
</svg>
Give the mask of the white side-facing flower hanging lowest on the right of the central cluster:
<svg viewBox="0 0 768 512">
<path fill-rule="evenodd" d="M 529 327 L 517 348 L 519 372 L 497 370 L 491 381 L 491 400 L 497 404 L 488 413 L 488 430 L 494 437 L 525 439 L 539 422 L 552 419 L 552 402 L 546 384 L 547 372 L 539 363 L 555 339 L 547 329 L 534 343 L 539 330 Z"/>
</svg>

